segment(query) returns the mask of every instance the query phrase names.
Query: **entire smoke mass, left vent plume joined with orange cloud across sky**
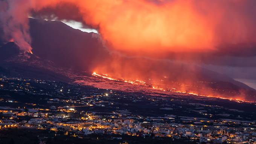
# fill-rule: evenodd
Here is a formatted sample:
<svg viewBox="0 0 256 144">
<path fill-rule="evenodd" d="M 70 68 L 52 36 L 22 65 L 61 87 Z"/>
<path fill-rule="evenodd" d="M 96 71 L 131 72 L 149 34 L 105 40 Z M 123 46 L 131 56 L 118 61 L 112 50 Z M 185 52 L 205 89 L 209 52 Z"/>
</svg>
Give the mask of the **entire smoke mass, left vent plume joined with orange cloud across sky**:
<svg viewBox="0 0 256 144">
<path fill-rule="evenodd" d="M 30 49 L 27 17 L 33 11 L 82 21 L 120 51 L 218 51 L 255 45 L 255 5 L 254 0 L 4 0 L 1 24 L 23 49 Z"/>
</svg>

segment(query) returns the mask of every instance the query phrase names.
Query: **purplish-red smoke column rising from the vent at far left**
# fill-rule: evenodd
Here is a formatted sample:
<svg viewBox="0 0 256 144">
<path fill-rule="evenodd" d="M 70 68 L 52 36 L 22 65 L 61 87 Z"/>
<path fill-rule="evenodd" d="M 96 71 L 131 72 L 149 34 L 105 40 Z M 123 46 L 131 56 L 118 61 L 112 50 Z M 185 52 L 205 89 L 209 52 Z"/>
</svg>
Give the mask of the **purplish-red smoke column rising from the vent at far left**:
<svg viewBox="0 0 256 144">
<path fill-rule="evenodd" d="M 22 0 L 0 1 L 0 27 L 2 39 L 15 42 L 25 52 L 31 52 L 28 14 L 30 3 Z"/>
</svg>

